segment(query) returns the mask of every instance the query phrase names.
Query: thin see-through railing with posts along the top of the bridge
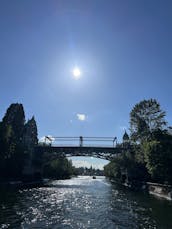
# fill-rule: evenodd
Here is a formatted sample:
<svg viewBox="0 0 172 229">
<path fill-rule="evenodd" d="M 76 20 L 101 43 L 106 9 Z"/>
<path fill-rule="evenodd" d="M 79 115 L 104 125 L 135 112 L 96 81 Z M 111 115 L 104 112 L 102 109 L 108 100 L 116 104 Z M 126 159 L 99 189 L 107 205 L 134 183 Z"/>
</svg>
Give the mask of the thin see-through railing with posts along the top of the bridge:
<svg viewBox="0 0 172 229">
<path fill-rule="evenodd" d="M 116 137 L 49 137 L 45 136 L 44 145 L 50 146 L 103 146 L 115 147 L 117 144 Z"/>
</svg>

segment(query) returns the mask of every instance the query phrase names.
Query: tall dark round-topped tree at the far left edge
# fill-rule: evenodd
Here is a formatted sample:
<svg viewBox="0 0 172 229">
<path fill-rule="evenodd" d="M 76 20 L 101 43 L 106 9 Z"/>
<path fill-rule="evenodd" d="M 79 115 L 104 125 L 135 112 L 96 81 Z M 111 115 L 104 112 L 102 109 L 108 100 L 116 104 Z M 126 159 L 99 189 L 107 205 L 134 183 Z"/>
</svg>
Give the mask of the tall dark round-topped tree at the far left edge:
<svg viewBox="0 0 172 229">
<path fill-rule="evenodd" d="M 6 178 L 18 178 L 23 168 L 23 130 L 25 114 L 22 104 L 11 104 L 0 125 L 1 158 Z M 4 177 L 4 178 L 5 178 Z"/>
</svg>

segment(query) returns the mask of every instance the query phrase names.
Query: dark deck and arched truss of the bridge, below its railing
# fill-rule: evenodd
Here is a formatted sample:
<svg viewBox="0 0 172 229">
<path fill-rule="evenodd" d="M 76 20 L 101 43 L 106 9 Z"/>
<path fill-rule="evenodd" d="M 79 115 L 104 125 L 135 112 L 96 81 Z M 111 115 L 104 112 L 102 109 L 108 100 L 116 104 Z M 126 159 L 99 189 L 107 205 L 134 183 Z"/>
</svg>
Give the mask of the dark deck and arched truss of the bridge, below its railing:
<svg viewBox="0 0 172 229">
<path fill-rule="evenodd" d="M 42 153 L 51 153 L 55 157 L 87 156 L 105 160 L 112 160 L 117 154 L 122 152 L 122 149 L 117 147 L 90 146 L 39 146 L 37 150 Z"/>
</svg>

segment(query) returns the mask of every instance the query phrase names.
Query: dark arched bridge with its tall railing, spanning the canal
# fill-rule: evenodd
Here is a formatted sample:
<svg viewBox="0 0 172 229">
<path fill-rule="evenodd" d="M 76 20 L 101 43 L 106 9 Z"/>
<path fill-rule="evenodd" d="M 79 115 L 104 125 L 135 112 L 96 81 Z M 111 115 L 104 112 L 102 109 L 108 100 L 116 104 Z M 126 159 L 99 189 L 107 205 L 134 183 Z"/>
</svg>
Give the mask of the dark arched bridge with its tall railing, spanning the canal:
<svg viewBox="0 0 172 229">
<path fill-rule="evenodd" d="M 54 157 L 91 156 L 112 160 L 126 150 L 117 144 L 116 137 L 49 137 L 37 147 L 39 152 L 50 153 Z"/>
</svg>

